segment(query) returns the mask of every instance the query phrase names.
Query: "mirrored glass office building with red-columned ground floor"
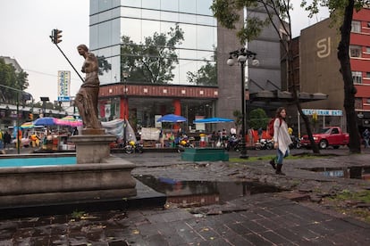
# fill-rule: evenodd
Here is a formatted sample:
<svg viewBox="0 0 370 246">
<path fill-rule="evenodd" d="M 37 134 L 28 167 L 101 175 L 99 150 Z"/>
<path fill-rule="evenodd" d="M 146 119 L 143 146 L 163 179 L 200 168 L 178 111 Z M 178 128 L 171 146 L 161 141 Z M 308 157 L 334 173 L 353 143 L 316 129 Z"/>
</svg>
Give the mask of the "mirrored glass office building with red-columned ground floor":
<svg viewBox="0 0 370 246">
<path fill-rule="evenodd" d="M 154 127 L 156 117 L 166 113 L 181 114 L 190 122 L 198 115 L 214 114 L 217 27 L 211 4 L 212 0 L 90 0 L 89 50 L 111 65 L 99 76 L 101 92 L 109 85 L 128 86 L 121 94 L 109 94 L 114 88 L 100 94 L 102 120 L 129 115 L 130 122 Z M 191 83 L 189 75 L 194 78 L 206 67 L 214 68 L 211 83 Z M 160 93 L 132 94 L 150 91 L 143 85 Z M 194 95 L 201 86 L 214 87 L 214 92 L 209 97 L 203 90 Z M 176 89 L 180 96 L 170 95 Z"/>
</svg>

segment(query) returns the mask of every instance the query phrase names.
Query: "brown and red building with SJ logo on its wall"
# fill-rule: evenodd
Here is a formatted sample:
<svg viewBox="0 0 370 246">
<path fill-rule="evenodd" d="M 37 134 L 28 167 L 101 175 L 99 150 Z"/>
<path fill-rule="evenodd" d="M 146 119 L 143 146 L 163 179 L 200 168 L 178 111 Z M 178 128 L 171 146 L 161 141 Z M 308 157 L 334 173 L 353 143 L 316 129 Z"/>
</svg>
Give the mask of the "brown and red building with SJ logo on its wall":
<svg viewBox="0 0 370 246">
<path fill-rule="evenodd" d="M 352 78 L 357 88 L 355 109 L 358 127 L 370 127 L 370 9 L 354 11 L 349 56 Z M 330 27 L 330 19 L 301 30 L 299 37 L 299 85 L 301 91 L 328 94 L 325 101 L 307 102 L 304 107 L 316 110 L 340 110 L 341 116 L 319 115 L 319 126 L 341 126 L 346 129 L 344 84 L 337 57 L 340 41 L 338 29 Z"/>
</svg>

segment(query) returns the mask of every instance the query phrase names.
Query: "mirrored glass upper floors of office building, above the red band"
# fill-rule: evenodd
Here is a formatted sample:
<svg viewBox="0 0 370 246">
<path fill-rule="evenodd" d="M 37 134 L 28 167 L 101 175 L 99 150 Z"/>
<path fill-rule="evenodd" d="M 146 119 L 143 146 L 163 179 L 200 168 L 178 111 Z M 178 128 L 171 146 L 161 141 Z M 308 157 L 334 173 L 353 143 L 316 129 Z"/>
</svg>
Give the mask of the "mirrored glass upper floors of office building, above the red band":
<svg viewBox="0 0 370 246">
<path fill-rule="evenodd" d="M 177 62 L 172 62 L 171 71 L 166 71 L 172 76 L 159 83 L 191 85 L 188 72 L 197 73 L 207 62 L 214 65 L 217 28 L 211 4 L 212 0 L 91 0 L 89 49 L 98 56 L 104 56 L 112 65 L 111 70 L 100 76 L 101 85 L 123 81 L 122 74 L 126 72 L 130 76 L 132 68 L 125 67 L 124 61 L 136 53 L 124 53 L 122 45 L 140 47 L 144 59 L 150 57 L 153 62 L 156 53 L 150 53 L 149 46 L 153 43 L 148 40 L 160 35 L 170 38 L 168 33 L 176 26 L 183 36 L 172 51 Z M 122 37 L 126 38 L 122 40 Z M 164 47 L 164 52 L 170 48 Z M 145 78 L 131 78 L 131 81 L 129 78 L 128 81 L 157 82 Z"/>
</svg>

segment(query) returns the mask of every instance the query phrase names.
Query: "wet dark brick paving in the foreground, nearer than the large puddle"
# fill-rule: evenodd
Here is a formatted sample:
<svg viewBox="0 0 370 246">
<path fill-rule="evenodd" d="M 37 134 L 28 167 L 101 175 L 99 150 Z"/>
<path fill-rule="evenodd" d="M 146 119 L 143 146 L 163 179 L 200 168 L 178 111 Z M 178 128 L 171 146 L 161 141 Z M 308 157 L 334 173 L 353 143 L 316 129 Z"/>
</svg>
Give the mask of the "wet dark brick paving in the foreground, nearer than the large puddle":
<svg viewBox="0 0 370 246">
<path fill-rule="evenodd" d="M 279 195 L 248 196 L 218 209 L 223 212 L 138 209 L 1 220 L 0 245 L 370 245 L 369 224 Z"/>
</svg>

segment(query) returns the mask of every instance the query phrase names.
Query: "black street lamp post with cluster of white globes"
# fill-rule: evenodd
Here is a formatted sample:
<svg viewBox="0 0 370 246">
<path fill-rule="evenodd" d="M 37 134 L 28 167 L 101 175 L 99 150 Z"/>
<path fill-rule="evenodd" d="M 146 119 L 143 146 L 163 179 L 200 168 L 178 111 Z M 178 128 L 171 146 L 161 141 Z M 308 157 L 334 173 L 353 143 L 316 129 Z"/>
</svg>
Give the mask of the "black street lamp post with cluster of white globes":
<svg viewBox="0 0 370 246">
<path fill-rule="evenodd" d="M 240 62 L 241 72 L 241 140 L 240 140 L 240 158 L 247 159 L 247 147 L 246 147 L 246 85 L 245 85 L 245 65 L 246 61 L 252 58 L 252 64 L 254 66 L 259 65 L 259 61 L 256 60 L 256 53 L 248 51 L 246 48 L 241 48 L 230 53 L 230 57 L 227 60 L 227 64 L 232 66 L 235 64 L 235 60 Z"/>
</svg>

